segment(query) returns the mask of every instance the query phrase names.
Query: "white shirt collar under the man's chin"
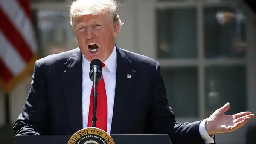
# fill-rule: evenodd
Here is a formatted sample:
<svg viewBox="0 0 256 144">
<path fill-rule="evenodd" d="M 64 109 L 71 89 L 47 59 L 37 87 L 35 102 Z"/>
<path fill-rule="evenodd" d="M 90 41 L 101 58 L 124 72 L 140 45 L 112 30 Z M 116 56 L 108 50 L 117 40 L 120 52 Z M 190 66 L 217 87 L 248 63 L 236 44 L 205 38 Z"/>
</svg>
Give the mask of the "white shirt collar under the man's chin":
<svg viewBox="0 0 256 144">
<path fill-rule="evenodd" d="M 105 60 L 104 64 L 105 64 L 105 67 L 107 67 L 107 69 L 113 73 L 114 71 L 114 68 L 116 66 L 116 46 L 114 47 L 111 55 L 108 57 L 107 60 Z M 83 56 L 83 59 L 82 59 L 82 63 L 83 63 L 83 69 L 84 69 L 84 72 L 90 72 L 90 61 L 88 61 L 86 58 L 84 58 L 84 55 Z M 104 67 L 104 68 L 105 68 Z M 103 69 L 104 69 L 103 68 Z M 103 70 L 102 69 L 102 70 Z"/>
</svg>

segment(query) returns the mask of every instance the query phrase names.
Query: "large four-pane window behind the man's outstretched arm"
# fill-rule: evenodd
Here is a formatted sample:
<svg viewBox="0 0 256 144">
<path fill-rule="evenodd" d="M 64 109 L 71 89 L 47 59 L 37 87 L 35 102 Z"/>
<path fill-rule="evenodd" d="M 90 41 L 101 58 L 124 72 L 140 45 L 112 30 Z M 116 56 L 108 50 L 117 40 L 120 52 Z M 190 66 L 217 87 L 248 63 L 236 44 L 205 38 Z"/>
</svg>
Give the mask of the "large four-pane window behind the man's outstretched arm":
<svg viewBox="0 0 256 144">
<path fill-rule="evenodd" d="M 140 27 L 140 52 L 159 61 L 177 118 L 205 118 L 226 102 L 236 105 L 229 114 L 246 110 L 246 17 L 236 1 L 152 1 L 155 17 Z M 139 19 L 150 14 L 143 9 Z M 143 41 L 150 34 L 155 41 Z"/>
</svg>

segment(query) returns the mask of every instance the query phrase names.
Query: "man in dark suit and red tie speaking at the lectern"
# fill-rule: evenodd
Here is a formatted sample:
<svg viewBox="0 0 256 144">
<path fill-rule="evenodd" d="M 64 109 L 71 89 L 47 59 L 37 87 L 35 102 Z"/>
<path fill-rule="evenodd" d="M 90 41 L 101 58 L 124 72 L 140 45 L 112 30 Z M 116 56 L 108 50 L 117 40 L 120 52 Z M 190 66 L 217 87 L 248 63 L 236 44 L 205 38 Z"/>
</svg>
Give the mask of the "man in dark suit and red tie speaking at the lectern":
<svg viewBox="0 0 256 144">
<path fill-rule="evenodd" d="M 230 105 L 210 118 L 177 123 L 168 104 L 157 61 L 120 49 L 115 44 L 122 22 L 113 0 L 77 0 L 70 23 L 79 48 L 35 62 L 33 80 L 23 112 L 14 125 L 16 135 L 71 135 L 91 127 L 93 82 L 90 62 L 103 63 L 97 86 L 96 127 L 109 134 L 168 134 L 172 143 L 215 143 L 216 133 L 230 132 L 254 115 L 224 115 Z"/>
</svg>

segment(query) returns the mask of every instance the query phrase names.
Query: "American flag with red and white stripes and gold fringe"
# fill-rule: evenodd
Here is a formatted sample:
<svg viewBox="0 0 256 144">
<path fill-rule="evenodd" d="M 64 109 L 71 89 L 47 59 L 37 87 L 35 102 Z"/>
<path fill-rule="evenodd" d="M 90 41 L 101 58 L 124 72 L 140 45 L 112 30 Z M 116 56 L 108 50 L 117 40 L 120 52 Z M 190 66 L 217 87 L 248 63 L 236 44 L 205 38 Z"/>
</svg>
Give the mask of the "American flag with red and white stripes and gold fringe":
<svg viewBox="0 0 256 144">
<path fill-rule="evenodd" d="M 9 93 L 33 69 L 38 49 L 29 0 L 0 0 L 0 87 Z"/>
</svg>

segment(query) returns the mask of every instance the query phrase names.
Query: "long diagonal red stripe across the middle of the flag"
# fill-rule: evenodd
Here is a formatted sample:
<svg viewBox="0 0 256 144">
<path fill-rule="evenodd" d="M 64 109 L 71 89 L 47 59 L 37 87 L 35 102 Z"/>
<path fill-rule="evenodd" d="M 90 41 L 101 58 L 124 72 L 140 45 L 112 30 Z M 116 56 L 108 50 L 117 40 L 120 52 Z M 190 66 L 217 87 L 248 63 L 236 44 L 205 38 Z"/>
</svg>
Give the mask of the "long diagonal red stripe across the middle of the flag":
<svg viewBox="0 0 256 144">
<path fill-rule="evenodd" d="M 6 35 L 6 38 L 10 40 L 13 47 L 17 50 L 17 52 L 19 52 L 22 58 L 26 62 L 29 62 L 29 60 L 32 58 L 32 53 L 29 49 L 29 46 L 25 43 L 25 41 L 23 40 L 23 37 L 20 35 L 17 29 L 12 25 L 8 17 L 6 17 L 6 15 L 3 13 L 1 9 L 0 9 L 0 19 L 5 22 L 5 23 L 0 23 L 0 29 L 2 30 L 3 35 Z M 22 48 L 20 48 L 20 46 L 22 46 Z M 6 48 L 9 49 L 8 47 Z M 2 47 L 1 49 L 4 49 L 4 47 Z"/>
</svg>

